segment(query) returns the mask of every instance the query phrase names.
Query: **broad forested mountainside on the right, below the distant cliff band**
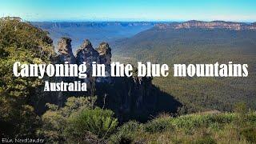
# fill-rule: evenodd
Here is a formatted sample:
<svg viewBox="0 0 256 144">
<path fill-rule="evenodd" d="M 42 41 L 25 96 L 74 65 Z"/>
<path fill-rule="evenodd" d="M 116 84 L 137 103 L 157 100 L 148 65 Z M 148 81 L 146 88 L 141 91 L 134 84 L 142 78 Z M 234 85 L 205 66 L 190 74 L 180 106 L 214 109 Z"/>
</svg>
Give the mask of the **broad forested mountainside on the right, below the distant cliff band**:
<svg viewBox="0 0 256 144">
<path fill-rule="evenodd" d="M 231 110 L 244 101 L 255 109 L 256 32 L 235 30 L 146 30 L 117 42 L 114 60 L 167 63 L 248 63 L 248 78 L 154 78 L 154 84 L 186 104 L 190 112 Z"/>
</svg>

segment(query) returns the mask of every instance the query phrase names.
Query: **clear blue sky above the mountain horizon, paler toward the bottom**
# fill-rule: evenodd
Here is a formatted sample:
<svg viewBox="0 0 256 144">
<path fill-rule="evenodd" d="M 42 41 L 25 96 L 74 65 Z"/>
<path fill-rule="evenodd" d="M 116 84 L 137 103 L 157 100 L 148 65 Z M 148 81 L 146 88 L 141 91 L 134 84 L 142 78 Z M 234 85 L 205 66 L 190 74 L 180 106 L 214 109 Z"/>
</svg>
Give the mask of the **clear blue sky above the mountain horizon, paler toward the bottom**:
<svg viewBox="0 0 256 144">
<path fill-rule="evenodd" d="M 0 14 L 26 21 L 256 22 L 256 0 L 0 0 Z"/>
</svg>

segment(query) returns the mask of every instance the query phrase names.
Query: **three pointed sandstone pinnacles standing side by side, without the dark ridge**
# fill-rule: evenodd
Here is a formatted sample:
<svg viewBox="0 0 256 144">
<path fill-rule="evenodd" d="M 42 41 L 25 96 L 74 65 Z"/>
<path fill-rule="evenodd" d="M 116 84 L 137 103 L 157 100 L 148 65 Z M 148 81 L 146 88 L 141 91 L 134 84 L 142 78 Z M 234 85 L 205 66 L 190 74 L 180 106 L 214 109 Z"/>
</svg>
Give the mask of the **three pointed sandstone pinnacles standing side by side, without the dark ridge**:
<svg viewBox="0 0 256 144">
<path fill-rule="evenodd" d="M 75 56 L 72 52 L 71 39 L 61 38 L 58 42 L 58 56 L 54 59 L 54 63 L 65 63 L 70 64 L 82 64 L 86 62 L 86 74 L 87 78 L 55 78 L 55 81 L 66 81 L 72 82 L 74 80 L 82 81 L 87 83 L 87 89 L 89 94 L 94 94 L 95 83 L 111 83 L 110 78 L 110 62 L 111 62 L 111 48 L 108 43 L 102 42 L 95 50 L 91 42 L 86 39 L 82 45 L 76 50 Z M 106 70 L 106 77 L 92 77 L 92 63 L 104 64 Z M 62 93 L 63 94 L 63 93 Z M 61 96 L 59 96 L 61 97 Z M 61 99 L 61 98 L 58 98 Z M 58 100 L 61 101 L 61 100 Z M 65 101 L 63 101 L 64 103 Z M 60 103 L 60 102 L 58 102 Z"/>
</svg>

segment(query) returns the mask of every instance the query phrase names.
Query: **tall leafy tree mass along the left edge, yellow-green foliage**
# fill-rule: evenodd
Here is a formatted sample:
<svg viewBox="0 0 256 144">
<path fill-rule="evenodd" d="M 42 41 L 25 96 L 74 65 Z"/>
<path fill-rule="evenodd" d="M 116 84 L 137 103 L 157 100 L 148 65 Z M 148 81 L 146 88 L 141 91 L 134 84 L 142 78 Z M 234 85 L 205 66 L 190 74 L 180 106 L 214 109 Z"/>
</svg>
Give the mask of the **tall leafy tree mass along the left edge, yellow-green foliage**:
<svg viewBox="0 0 256 144">
<path fill-rule="evenodd" d="M 42 81 L 16 78 L 14 62 L 47 63 L 54 54 L 47 33 L 20 18 L 0 19 L 0 133 L 8 137 L 33 136 L 38 126 L 32 99 L 39 98 Z"/>
</svg>

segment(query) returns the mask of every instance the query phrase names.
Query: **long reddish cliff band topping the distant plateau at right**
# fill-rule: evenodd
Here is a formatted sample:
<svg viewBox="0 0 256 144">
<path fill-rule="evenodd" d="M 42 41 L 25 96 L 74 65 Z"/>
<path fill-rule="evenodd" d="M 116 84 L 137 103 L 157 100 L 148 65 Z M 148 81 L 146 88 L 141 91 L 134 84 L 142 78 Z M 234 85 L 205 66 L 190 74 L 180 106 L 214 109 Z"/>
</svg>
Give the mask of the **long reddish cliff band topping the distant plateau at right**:
<svg viewBox="0 0 256 144">
<path fill-rule="evenodd" d="M 224 22 L 224 21 L 213 21 L 213 22 L 202 22 L 202 21 L 188 21 L 174 24 L 158 24 L 156 25 L 159 29 L 190 29 L 190 28 L 202 28 L 202 29 L 227 29 L 227 30 L 256 30 L 254 23 L 247 24 L 242 22 Z"/>
</svg>

